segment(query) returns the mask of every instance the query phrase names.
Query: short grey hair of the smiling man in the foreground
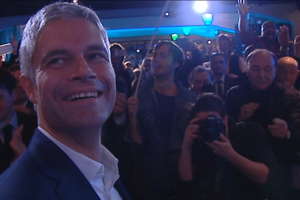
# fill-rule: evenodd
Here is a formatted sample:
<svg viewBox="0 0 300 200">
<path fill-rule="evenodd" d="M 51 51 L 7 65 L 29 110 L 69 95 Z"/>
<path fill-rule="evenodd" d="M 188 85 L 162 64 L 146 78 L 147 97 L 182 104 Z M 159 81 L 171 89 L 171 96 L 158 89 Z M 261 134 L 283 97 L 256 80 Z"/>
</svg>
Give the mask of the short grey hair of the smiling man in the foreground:
<svg viewBox="0 0 300 200">
<path fill-rule="evenodd" d="M 26 23 L 21 45 L 19 49 L 21 72 L 35 84 L 35 72 L 33 70 L 33 53 L 36 42 L 45 25 L 57 18 L 71 19 L 81 17 L 96 25 L 103 36 L 106 51 L 110 62 L 109 41 L 107 32 L 100 22 L 97 14 L 90 8 L 70 2 L 56 2 L 41 8 L 30 17 Z M 51 41 L 49 41 L 51 42 Z"/>
</svg>

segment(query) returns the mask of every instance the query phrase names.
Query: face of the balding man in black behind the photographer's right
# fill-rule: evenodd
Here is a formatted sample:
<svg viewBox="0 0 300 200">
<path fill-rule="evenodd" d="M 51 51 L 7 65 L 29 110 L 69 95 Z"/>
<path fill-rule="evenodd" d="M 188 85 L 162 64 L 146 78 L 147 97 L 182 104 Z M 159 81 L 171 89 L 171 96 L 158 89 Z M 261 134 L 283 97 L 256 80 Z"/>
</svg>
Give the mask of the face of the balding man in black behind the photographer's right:
<svg viewBox="0 0 300 200">
<path fill-rule="evenodd" d="M 253 89 L 264 90 L 272 84 L 275 77 L 275 64 L 269 53 L 257 51 L 247 64 L 246 74 Z"/>
</svg>

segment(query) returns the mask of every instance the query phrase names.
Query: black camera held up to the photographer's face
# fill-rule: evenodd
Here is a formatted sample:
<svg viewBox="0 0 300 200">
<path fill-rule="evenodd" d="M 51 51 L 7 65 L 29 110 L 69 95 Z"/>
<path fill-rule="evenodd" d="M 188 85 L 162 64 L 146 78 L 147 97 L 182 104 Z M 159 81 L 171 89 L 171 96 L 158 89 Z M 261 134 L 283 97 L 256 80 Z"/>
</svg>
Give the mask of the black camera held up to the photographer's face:
<svg viewBox="0 0 300 200">
<path fill-rule="evenodd" d="M 198 134 L 204 141 L 214 141 L 220 138 L 220 133 L 224 134 L 225 124 L 215 115 L 209 115 L 206 119 L 196 122 L 200 126 Z"/>
</svg>

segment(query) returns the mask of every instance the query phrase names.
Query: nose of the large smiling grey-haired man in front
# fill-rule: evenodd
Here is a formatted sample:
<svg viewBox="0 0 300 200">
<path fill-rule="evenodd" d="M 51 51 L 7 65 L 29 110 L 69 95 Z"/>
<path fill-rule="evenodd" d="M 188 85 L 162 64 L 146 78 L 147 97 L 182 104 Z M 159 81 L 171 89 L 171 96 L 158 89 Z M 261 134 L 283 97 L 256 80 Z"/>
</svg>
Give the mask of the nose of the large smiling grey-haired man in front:
<svg viewBox="0 0 300 200">
<path fill-rule="evenodd" d="M 96 78 L 96 73 L 88 65 L 83 56 L 78 56 L 74 59 L 71 70 L 72 73 L 69 77 L 70 80 L 86 80 Z"/>
</svg>

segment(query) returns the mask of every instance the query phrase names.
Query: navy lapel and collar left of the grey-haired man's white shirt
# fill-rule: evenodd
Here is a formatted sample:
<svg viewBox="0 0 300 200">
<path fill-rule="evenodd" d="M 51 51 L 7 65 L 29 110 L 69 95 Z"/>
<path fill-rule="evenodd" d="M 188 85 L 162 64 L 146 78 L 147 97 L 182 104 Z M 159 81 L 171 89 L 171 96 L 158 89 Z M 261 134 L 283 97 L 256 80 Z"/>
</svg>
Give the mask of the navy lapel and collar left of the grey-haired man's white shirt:
<svg viewBox="0 0 300 200">
<path fill-rule="evenodd" d="M 44 176 L 56 180 L 53 187 L 61 199 L 100 199 L 72 160 L 38 129 L 28 146 Z"/>
</svg>

